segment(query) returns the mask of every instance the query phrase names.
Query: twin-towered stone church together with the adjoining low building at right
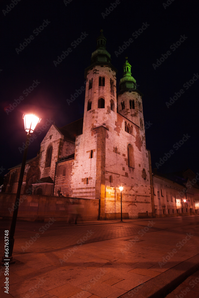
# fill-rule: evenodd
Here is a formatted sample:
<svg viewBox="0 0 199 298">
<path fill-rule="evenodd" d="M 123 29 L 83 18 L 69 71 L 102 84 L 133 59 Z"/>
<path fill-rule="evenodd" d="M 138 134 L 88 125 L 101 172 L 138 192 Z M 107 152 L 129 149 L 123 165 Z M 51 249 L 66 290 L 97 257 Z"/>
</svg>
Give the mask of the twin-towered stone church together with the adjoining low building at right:
<svg viewBox="0 0 199 298">
<path fill-rule="evenodd" d="M 125 59 L 116 92 L 117 69 L 101 32 L 84 73 L 84 117 L 61 128 L 51 125 L 38 155 L 26 162 L 21 194 L 98 200 L 100 219 L 115 219 L 123 186 L 124 218 L 198 214 L 197 178 L 189 195 L 183 190 L 195 177 L 191 170 L 177 180 L 152 171 L 143 94 Z M 16 193 L 20 168 L 5 175 L 2 192 Z"/>
</svg>

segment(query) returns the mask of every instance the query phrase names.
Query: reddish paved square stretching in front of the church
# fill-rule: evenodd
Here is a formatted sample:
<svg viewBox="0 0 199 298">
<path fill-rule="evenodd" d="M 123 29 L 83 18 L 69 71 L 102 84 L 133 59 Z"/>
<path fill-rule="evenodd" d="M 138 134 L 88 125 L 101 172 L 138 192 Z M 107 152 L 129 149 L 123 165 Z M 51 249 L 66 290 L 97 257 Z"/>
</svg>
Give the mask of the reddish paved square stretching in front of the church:
<svg viewBox="0 0 199 298">
<path fill-rule="evenodd" d="M 10 229 L 9 222 L 0 226 L 1 236 Z M 4 294 L 4 268 L 0 270 L 1 297 L 117 298 L 163 272 L 169 274 L 196 256 L 198 246 L 199 216 L 77 226 L 53 219 L 17 222 L 16 263 L 9 266 L 9 294 Z"/>
</svg>

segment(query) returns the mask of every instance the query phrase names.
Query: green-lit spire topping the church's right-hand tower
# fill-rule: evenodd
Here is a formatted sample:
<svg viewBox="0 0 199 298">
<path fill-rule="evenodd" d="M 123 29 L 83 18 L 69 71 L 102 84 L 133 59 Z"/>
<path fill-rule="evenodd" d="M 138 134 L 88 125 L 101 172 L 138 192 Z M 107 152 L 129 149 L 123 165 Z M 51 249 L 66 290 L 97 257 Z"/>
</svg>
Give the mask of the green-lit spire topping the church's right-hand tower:
<svg viewBox="0 0 199 298">
<path fill-rule="evenodd" d="M 131 65 L 128 62 L 128 57 L 125 57 L 126 61 L 123 65 L 123 77 L 120 79 L 119 88 L 122 89 L 136 89 L 136 80 L 131 75 Z"/>
</svg>

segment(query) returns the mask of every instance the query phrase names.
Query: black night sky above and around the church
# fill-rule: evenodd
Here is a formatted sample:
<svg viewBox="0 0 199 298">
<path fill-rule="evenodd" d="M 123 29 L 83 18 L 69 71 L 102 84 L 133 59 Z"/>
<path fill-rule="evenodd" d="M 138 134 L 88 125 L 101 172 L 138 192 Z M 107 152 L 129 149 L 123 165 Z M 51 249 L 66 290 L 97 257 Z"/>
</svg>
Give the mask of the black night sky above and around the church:
<svg viewBox="0 0 199 298">
<path fill-rule="evenodd" d="M 75 89 L 84 86 L 84 69 L 90 65 L 101 28 L 107 38 L 112 65 L 118 69 L 117 88 L 125 56 L 128 56 L 132 76 L 144 94 L 144 121 L 151 124 L 146 129 L 146 147 L 151 150 L 152 167 L 157 167 L 155 163 L 173 150 L 172 156 L 158 166 L 160 172 L 187 167 L 198 171 L 199 80 L 194 77 L 199 72 L 196 1 L 169 0 L 164 5 L 162 1 L 127 0 L 117 1 L 117 5 L 114 1 L 103 0 L 13 2 L 0 3 L 1 176 L 22 161 L 23 151 L 20 153 L 18 148 L 25 142 L 24 113 L 33 111 L 42 118 L 37 127 L 37 138 L 29 146 L 28 158 L 36 156 L 50 128 L 50 125 L 44 126 L 43 132 L 40 131 L 47 119 L 61 127 L 83 117 L 84 92 L 70 105 L 67 99 Z M 108 11 L 110 3 L 116 7 Z M 41 32 L 36 31 L 43 23 L 46 27 Z M 136 35 L 143 23 L 147 28 Z M 84 40 L 76 47 L 72 46 L 82 32 L 87 34 Z M 119 46 L 129 38 L 133 42 L 117 55 Z M 16 50 L 25 39 L 29 41 L 27 46 L 21 51 Z M 57 56 L 69 47 L 72 52 L 55 67 L 53 61 L 57 61 Z M 164 61 L 161 59 L 161 65 L 153 66 L 167 51 L 170 55 Z M 193 77 L 195 81 L 190 81 Z M 38 86 L 34 85 L 36 87 L 28 95 L 23 94 L 34 80 L 40 82 Z M 186 85 L 189 81 L 190 86 Z M 179 95 L 181 89 L 183 94 L 168 108 L 166 102 L 169 103 L 175 93 Z M 8 112 L 6 108 L 20 96 L 24 100 Z M 181 147 L 175 145 L 184 134 L 188 136 L 186 142 L 181 141 Z"/>
</svg>

